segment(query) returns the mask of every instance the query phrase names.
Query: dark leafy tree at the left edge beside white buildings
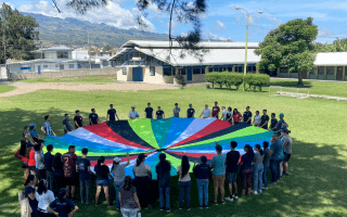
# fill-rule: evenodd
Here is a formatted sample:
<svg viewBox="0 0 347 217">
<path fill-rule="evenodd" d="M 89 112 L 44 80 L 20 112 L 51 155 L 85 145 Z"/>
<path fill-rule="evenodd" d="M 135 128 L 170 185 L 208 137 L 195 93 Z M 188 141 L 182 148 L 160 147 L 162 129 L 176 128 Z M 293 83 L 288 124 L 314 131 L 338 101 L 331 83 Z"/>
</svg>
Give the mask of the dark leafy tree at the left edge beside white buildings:
<svg viewBox="0 0 347 217">
<path fill-rule="evenodd" d="M 38 31 L 35 28 L 39 25 L 30 16 L 23 16 L 17 10 L 3 3 L 0 8 L 0 63 L 8 58 L 30 60 L 34 58 L 29 51 L 36 49 L 34 43 L 38 40 Z M 7 51 L 5 54 L 2 51 Z"/>
</svg>

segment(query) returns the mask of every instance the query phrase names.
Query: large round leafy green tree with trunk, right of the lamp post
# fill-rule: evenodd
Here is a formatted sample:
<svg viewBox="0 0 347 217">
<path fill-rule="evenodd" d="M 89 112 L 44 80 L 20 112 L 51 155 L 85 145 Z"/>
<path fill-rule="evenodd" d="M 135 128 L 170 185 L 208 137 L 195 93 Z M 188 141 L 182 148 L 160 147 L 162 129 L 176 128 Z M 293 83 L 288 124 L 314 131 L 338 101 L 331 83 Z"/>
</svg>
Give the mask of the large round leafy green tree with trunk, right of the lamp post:
<svg viewBox="0 0 347 217">
<path fill-rule="evenodd" d="M 279 67 L 288 67 L 290 72 L 298 73 L 298 85 L 303 85 L 303 72 L 310 72 L 316 66 L 313 40 L 318 35 L 318 27 L 313 18 L 297 18 L 282 24 L 271 30 L 260 48 L 255 53 L 261 55 L 257 67 L 273 71 Z"/>
</svg>

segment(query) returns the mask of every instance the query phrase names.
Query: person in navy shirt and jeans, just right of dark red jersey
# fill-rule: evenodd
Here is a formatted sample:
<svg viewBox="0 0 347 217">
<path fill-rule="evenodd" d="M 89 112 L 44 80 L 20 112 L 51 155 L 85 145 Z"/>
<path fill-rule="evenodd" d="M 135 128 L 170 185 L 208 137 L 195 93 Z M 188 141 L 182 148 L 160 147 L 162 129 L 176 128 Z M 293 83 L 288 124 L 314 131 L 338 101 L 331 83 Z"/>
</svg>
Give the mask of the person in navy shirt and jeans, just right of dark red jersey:
<svg viewBox="0 0 347 217">
<path fill-rule="evenodd" d="M 82 157 L 77 161 L 76 171 L 79 173 L 80 202 L 90 203 L 90 161 L 87 159 L 88 149 L 82 149 Z M 86 196 L 87 194 L 87 196 Z"/>
</svg>

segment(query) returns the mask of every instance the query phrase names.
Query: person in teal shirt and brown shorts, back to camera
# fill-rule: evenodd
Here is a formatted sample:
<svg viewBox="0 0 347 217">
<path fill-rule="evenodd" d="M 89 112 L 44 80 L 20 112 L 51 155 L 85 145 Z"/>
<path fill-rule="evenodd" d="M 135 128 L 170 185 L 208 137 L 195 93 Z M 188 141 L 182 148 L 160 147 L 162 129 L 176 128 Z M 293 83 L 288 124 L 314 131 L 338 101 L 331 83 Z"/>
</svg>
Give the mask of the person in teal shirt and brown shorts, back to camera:
<svg viewBox="0 0 347 217">
<path fill-rule="evenodd" d="M 221 203 L 226 204 L 224 201 L 224 180 L 226 180 L 226 155 L 222 155 L 222 146 L 216 142 L 217 155 L 213 157 L 211 168 L 214 188 L 215 188 L 215 205 L 218 205 L 218 189 L 220 189 Z"/>
</svg>

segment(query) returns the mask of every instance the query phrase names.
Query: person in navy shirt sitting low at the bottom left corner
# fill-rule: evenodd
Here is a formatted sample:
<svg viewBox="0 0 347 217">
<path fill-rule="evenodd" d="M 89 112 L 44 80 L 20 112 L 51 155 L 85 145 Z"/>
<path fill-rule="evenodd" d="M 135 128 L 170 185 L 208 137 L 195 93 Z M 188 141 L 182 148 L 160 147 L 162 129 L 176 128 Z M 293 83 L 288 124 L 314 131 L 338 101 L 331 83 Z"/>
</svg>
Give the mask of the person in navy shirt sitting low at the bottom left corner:
<svg viewBox="0 0 347 217">
<path fill-rule="evenodd" d="M 62 188 L 59 190 L 59 196 L 47 207 L 59 217 L 72 217 L 77 210 L 78 206 L 70 200 L 66 199 L 67 189 Z"/>
</svg>

